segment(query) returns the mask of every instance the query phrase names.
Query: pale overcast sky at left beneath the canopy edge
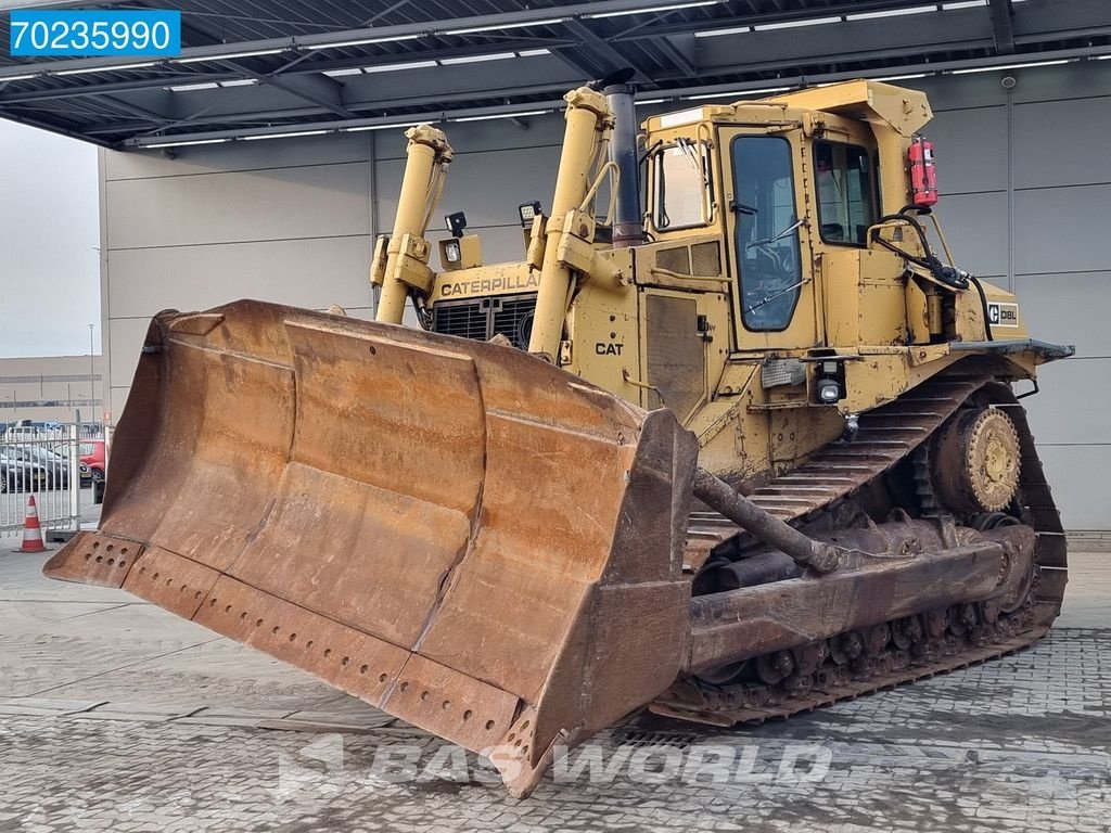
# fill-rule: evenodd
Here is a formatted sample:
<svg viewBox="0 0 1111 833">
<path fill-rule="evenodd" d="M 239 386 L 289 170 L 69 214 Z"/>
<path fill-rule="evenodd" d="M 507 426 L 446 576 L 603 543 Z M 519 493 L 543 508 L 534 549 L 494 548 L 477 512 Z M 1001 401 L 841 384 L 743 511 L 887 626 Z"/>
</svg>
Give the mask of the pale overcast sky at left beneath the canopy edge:
<svg viewBox="0 0 1111 833">
<path fill-rule="evenodd" d="M 0 357 L 100 352 L 97 149 L 0 119 Z"/>
</svg>

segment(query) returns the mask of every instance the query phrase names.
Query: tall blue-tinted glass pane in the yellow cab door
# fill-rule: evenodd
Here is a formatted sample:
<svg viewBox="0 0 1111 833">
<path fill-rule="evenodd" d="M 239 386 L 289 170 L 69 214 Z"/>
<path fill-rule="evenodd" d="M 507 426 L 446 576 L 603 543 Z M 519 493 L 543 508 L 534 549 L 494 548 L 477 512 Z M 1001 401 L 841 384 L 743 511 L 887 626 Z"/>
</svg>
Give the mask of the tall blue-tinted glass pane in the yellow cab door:
<svg viewBox="0 0 1111 833">
<path fill-rule="evenodd" d="M 731 150 L 741 321 L 753 331 L 784 330 L 802 285 L 791 145 L 739 136 Z"/>
</svg>

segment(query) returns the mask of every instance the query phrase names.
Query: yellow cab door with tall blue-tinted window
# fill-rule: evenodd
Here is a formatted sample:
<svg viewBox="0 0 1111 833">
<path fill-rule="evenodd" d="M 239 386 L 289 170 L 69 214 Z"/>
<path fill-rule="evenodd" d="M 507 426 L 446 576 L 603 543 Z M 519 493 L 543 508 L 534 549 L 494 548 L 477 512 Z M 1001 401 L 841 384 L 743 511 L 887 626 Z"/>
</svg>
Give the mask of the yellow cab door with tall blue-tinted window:
<svg viewBox="0 0 1111 833">
<path fill-rule="evenodd" d="M 735 281 L 740 350 L 822 342 L 813 281 L 808 171 L 801 130 L 722 131 L 729 209 L 727 250 Z"/>
</svg>

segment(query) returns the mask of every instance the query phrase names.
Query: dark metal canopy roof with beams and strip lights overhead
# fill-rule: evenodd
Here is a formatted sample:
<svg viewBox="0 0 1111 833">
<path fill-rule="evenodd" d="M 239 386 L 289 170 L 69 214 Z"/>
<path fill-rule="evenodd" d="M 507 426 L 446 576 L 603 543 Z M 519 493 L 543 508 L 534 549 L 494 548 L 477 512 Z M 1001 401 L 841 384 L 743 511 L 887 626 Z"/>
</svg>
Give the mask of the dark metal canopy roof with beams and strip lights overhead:
<svg viewBox="0 0 1111 833">
<path fill-rule="evenodd" d="M 110 148 L 522 119 L 624 67 L 661 102 L 1111 58 L 1108 0 L 0 2 L 12 6 L 181 10 L 177 57 L 0 57 L 0 118 Z"/>
</svg>

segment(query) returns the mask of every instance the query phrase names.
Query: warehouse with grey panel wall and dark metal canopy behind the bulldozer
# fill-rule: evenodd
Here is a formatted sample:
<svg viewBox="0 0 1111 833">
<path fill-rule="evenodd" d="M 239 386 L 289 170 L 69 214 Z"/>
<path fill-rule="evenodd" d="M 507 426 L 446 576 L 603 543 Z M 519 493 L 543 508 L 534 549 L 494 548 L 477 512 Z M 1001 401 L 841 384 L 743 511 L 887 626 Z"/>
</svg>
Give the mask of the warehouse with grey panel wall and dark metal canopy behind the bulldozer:
<svg viewBox="0 0 1111 833">
<path fill-rule="evenodd" d="M 567 89 L 631 67 L 648 116 L 862 77 L 929 94 L 959 263 L 1017 292 L 1038 338 L 1075 343 L 1027 403 L 1065 525 L 1108 523 L 1103 0 L 278 6 L 254 21 L 176 3 L 186 49 L 168 61 L 0 59 L 0 116 L 103 147 L 103 410 L 121 412 L 159 310 L 371 317 L 408 124 L 448 131 L 442 213 L 466 211 L 489 262 L 521 255 L 518 205 L 550 200 Z"/>
</svg>

